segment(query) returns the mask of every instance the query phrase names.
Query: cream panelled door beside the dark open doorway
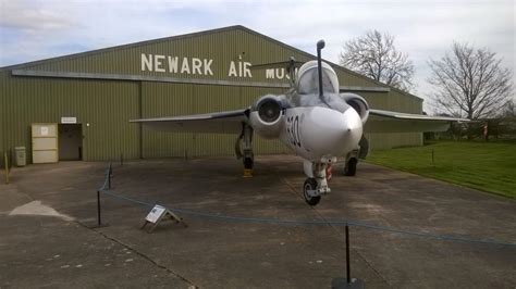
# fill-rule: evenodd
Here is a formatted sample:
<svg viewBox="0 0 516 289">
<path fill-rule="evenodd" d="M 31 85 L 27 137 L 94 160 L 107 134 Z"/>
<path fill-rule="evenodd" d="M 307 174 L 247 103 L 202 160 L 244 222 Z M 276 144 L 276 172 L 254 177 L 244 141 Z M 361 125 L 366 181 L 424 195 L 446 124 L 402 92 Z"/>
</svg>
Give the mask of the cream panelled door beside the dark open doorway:
<svg viewBox="0 0 516 289">
<path fill-rule="evenodd" d="M 57 163 L 58 124 L 33 124 L 33 163 Z"/>
</svg>

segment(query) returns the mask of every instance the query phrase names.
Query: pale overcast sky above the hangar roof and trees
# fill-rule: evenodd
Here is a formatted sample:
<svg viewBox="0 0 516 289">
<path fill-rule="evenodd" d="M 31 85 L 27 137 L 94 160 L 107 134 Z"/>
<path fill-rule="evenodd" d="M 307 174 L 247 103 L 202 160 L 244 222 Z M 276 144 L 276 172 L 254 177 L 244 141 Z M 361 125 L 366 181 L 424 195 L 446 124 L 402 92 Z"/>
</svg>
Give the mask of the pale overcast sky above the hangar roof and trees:
<svg viewBox="0 0 516 289">
<path fill-rule="evenodd" d="M 0 66 L 236 24 L 312 54 L 324 39 L 323 58 L 337 63 L 346 40 L 378 29 L 408 53 L 425 98 L 427 61 L 453 41 L 487 47 L 514 72 L 515 13 L 514 0 L 0 0 Z"/>
</svg>

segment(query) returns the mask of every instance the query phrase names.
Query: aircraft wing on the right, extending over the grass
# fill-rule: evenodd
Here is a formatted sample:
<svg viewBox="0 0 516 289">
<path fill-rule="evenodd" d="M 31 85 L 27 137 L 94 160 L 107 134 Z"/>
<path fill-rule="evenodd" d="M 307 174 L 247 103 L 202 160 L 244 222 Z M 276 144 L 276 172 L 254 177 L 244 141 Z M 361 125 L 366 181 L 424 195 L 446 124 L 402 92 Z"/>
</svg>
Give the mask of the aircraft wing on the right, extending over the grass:
<svg viewBox="0 0 516 289">
<path fill-rule="evenodd" d="M 452 122 L 469 122 L 469 120 L 369 110 L 369 118 L 364 130 L 366 133 L 445 131 Z"/>
</svg>

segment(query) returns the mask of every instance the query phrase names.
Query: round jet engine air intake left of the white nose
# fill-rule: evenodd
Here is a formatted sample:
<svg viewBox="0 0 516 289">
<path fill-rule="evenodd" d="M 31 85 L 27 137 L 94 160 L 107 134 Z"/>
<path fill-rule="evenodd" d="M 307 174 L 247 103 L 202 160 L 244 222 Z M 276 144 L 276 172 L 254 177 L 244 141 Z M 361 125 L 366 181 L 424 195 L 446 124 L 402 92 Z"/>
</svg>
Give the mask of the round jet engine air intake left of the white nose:
<svg viewBox="0 0 516 289">
<path fill-rule="evenodd" d="M 274 96 L 265 96 L 253 105 L 249 118 L 250 125 L 259 136 L 275 138 L 283 127 L 283 104 Z"/>
</svg>

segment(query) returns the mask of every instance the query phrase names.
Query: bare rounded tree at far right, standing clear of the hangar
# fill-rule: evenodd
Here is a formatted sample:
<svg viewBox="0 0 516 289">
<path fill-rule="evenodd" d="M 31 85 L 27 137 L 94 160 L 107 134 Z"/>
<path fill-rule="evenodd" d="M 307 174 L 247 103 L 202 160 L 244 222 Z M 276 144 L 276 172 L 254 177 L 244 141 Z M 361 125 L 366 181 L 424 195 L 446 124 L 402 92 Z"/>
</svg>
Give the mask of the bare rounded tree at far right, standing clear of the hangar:
<svg viewBox="0 0 516 289">
<path fill-rule="evenodd" d="M 501 66 L 502 59 L 488 49 L 455 42 L 452 53 L 430 60 L 428 81 L 439 111 L 469 120 L 493 117 L 503 111 L 512 92 L 512 72 Z"/>
</svg>

